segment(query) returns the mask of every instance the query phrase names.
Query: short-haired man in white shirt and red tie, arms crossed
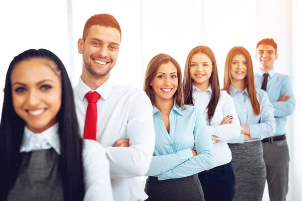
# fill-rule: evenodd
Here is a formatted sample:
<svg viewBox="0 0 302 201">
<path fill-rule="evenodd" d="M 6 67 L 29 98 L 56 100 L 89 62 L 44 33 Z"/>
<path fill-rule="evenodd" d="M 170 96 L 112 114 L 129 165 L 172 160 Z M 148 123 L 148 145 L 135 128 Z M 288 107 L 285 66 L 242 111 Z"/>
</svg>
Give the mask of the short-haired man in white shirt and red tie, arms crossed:
<svg viewBox="0 0 302 201">
<path fill-rule="evenodd" d="M 120 42 L 121 29 L 113 16 L 95 15 L 86 22 L 78 41 L 83 69 L 74 101 L 83 137 L 106 147 L 114 199 L 145 200 L 140 176 L 154 151 L 153 107 L 144 91 L 112 80 Z"/>
</svg>

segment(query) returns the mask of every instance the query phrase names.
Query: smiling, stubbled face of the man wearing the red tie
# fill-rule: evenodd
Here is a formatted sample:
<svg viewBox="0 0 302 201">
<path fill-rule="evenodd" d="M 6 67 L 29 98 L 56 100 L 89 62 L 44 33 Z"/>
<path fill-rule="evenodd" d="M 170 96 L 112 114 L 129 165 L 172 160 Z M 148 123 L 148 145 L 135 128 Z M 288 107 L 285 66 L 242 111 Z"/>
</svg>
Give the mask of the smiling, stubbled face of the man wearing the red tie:
<svg viewBox="0 0 302 201">
<path fill-rule="evenodd" d="M 83 71 L 95 77 L 109 77 L 117 60 L 120 42 L 121 35 L 117 29 L 91 26 L 85 41 L 78 41 L 78 51 L 83 54 Z"/>
</svg>

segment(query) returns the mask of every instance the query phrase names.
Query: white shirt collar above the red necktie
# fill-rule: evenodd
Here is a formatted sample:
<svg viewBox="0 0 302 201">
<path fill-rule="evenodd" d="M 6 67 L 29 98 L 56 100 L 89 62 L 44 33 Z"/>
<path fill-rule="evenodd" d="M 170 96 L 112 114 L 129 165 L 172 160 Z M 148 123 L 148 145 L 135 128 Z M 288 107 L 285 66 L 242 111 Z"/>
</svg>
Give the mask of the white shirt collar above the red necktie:
<svg viewBox="0 0 302 201">
<path fill-rule="evenodd" d="M 104 98 L 105 100 L 108 98 L 109 93 L 113 87 L 113 80 L 111 78 L 111 76 L 109 76 L 109 78 L 107 79 L 107 81 L 105 83 L 103 83 L 101 86 L 99 86 L 96 90 L 92 90 L 89 86 L 87 86 L 87 84 L 84 83 L 84 81 L 82 80 L 82 77 L 80 76 L 79 79 L 79 96 L 80 99 L 83 100 L 86 93 L 88 92 L 92 92 L 92 91 L 96 91 L 98 92 L 102 98 Z"/>
</svg>

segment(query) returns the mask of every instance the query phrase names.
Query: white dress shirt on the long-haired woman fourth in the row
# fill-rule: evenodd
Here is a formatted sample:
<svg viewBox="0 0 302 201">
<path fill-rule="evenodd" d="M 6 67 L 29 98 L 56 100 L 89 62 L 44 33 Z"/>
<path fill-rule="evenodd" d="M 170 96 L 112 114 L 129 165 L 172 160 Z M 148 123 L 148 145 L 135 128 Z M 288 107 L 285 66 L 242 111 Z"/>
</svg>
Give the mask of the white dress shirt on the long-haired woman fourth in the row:
<svg viewBox="0 0 302 201">
<path fill-rule="evenodd" d="M 228 144 L 226 144 L 226 141 L 237 139 L 241 132 L 240 122 L 236 114 L 232 96 L 226 91 L 220 91 L 216 110 L 211 119 L 211 125 L 209 125 L 208 109 L 206 107 L 210 102 L 212 94 L 211 85 L 205 91 L 201 91 L 193 85 L 192 90 L 194 106 L 203 111 L 207 120 L 207 129 L 212 136 L 212 141 L 214 143 L 214 166 L 217 167 L 231 162 L 232 153 Z M 222 120 L 228 115 L 233 116 L 232 123 L 220 125 Z M 213 137 L 213 135 L 218 138 Z M 215 140 L 220 140 L 220 142 L 215 143 Z"/>
</svg>

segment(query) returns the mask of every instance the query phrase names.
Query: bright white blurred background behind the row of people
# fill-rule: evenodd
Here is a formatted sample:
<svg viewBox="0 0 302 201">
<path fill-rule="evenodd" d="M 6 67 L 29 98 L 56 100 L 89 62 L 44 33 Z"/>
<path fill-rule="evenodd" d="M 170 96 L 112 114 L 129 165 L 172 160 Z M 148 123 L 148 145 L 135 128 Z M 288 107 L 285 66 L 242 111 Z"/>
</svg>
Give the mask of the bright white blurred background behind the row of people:
<svg viewBox="0 0 302 201">
<path fill-rule="evenodd" d="M 14 56 L 30 48 L 45 48 L 63 61 L 72 85 L 82 71 L 77 41 L 86 21 L 108 13 L 119 22 L 122 41 L 111 75 L 115 82 L 141 88 L 146 66 L 158 53 L 174 57 L 184 70 L 186 57 L 198 45 L 216 57 L 220 86 L 224 61 L 234 46 L 243 46 L 254 59 L 256 44 L 273 38 L 278 45 L 276 71 L 291 76 L 295 113 L 288 118 L 290 151 L 287 200 L 302 200 L 302 153 L 298 114 L 302 85 L 302 1 L 300 0 L 11 0 L 0 2 L 0 109 L 8 66 Z M 0 111 L 1 112 L 1 111 Z M 143 178 L 142 178 L 143 179 Z M 269 200 L 267 187 L 263 200 Z"/>
</svg>

